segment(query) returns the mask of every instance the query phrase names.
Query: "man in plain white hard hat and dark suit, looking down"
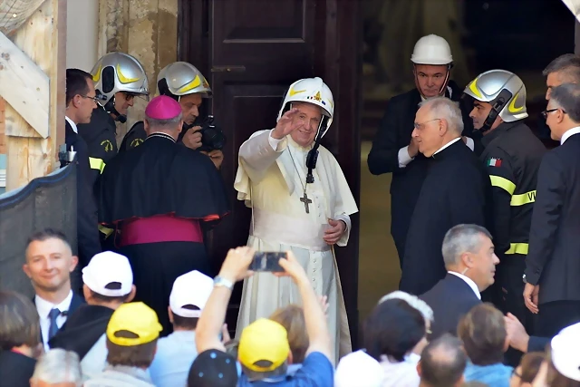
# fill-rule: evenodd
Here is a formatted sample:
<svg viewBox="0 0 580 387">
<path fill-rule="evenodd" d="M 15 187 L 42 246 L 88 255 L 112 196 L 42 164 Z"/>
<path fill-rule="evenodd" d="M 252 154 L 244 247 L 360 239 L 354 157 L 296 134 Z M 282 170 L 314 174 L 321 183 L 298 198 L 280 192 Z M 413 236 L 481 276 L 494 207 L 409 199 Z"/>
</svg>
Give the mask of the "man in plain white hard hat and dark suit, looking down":
<svg viewBox="0 0 580 387">
<path fill-rule="evenodd" d="M 411 139 L 419 103 L 437 96 L 459 102 L 464 121 L 462 134 L 469 136 L 472 131 L 470 107 L 460 100 L 458 85 L 449 81 L 453 56 L 445 39 L 434 34 L 420 38 L 411 62 L 416 88 L 391 98 L 367 160 L 373 175 L 392 173 L 391 235 L 401 267 L 412 211 L 427 172 L 427 159 L 420 154 L 417 141 Z M 473 140 L 466 137 L 463 140 L 474 149 Z"/>
</svg>

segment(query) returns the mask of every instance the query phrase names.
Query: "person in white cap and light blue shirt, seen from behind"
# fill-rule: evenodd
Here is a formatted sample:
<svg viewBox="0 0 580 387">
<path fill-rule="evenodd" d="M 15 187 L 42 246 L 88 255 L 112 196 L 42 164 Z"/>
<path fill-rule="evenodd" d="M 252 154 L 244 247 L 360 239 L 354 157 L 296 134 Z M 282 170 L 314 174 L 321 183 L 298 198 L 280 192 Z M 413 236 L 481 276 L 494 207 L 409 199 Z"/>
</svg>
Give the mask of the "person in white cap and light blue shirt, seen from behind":
<svg viewBox="0 0 580 387">
<path fill-rule="evenodd" d="M 150 376 L 158 387 L 184 386 L 189 368 L 198 356 L 196 327 L 214 281 L 198 270 L 179 276 L 169 295 L 169 320 L 173 333 L 160 338 L 150 365 Z"/>
</svg>

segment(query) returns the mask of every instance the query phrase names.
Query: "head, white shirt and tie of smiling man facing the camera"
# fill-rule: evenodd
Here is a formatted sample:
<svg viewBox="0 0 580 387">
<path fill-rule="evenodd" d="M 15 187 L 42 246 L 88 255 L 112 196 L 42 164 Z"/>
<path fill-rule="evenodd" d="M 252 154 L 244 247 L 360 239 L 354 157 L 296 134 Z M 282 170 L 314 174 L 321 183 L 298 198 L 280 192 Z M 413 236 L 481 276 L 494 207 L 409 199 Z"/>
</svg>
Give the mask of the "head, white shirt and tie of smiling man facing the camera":
<svg viewBox="0 0 580 387">
<path fill-rule="evenodd" d="M 82 304 L 82 298 L 71 290 L 71 273 L 78 258 L 64 234 L 51 228 L 29 238 L 25 256 L 23 269 L 34 287 L 34 305 L 40 316 L 44 350 L 48 351 L 48 341 Z"/>
</svg>

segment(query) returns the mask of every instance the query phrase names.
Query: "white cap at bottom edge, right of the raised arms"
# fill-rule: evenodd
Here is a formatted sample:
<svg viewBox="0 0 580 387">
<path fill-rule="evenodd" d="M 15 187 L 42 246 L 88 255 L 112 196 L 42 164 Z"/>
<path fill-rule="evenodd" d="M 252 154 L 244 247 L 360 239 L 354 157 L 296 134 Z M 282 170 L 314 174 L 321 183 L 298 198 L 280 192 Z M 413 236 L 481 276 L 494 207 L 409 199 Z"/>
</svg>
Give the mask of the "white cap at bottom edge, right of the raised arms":
<svg viewBox="0 0 580 387">
<path fill-rule="evenodd" d="M 364 351 L 344 356 L 334 372 L 335 387 L 381 387 L 382 366 Z"/>
</svg>

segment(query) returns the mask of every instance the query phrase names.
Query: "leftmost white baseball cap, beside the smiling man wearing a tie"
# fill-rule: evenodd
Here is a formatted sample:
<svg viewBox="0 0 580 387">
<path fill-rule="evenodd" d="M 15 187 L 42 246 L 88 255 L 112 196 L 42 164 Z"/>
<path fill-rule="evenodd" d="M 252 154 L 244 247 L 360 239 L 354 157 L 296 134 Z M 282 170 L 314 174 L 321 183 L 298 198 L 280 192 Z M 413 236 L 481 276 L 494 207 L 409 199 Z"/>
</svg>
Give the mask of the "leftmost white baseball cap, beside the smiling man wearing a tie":
<svg viewBox="0 0 580 387">
<path fill-rule="evenodd" d="M 99 295 L 129 295 L 133 285 L 133 271 L 129 259 L 112 251 L 103 251 L 93 256 L 89 265 L 82 269 L 82 282 Z M 113 282 L 121 284 L 121 288 L 106 287 Z"/>
</svg>

